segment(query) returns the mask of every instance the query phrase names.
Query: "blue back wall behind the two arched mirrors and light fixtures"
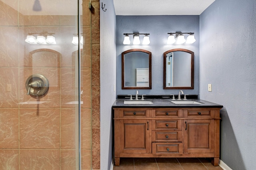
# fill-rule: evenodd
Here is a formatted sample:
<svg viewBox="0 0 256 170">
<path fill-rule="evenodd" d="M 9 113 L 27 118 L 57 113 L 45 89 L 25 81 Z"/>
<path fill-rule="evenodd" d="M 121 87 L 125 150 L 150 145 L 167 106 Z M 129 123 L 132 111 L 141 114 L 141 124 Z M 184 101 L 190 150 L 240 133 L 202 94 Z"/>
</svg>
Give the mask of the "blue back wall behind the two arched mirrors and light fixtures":
<svg viewBox="0 0 256 170">
<path fill-rule="evenodd" d="M 170 32 L 194 32 L 196 42 L 167 45 Z M 150 33 L 149 45 L 123 45 L 124 33 Z M 186 35 L 185 35 L 186 36 Z M 132 36 L 130 35 L 132 42 Z M 140 36 L 142 42 L 143 36 Z M 116 94 L 135 94 L 136 90 L 122 90 L 121 53 L 128 49 L 146 49 L 152 53 L 152 89 L 138 90 L 139 94 L 178 94 L 179 90 L 163 89 L 163 53 L 184 48 L 194 52 L 194 89 L 186 94 L 199 94 L 199 16 L 116 16 Z"/>
</svg>

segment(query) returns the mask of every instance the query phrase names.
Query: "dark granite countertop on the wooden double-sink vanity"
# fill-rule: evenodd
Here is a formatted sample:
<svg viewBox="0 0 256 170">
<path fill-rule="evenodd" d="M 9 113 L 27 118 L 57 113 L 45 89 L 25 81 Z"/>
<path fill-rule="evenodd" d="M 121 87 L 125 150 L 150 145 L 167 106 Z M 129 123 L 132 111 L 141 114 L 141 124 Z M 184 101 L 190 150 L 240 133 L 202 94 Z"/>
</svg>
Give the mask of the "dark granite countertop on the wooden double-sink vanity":
<svg viewBox="0 0 256 170">
<path fill-rule="evenodd" d="M 200 100 L 200 99 L 188 99 L 186 101 L 196 101 L 200 102 L 201 104 L 174 104 L 171 101 L 185 101 L 185 100 L 172 100 L 170 98 L 145 98 L 145 100 L 150 100 L 153 102 L 153 104 L 124 104 L 124 100 L 129 100 L 129 99 L 123 99 L 123 98 L 118 98 L 112 105 L 112 108 L 121 108 L 121 107 L 216 107 L 216 108 L 222 108 L 223 106 L 220 104 L 215 104 L 212 102 L 208 102 L 205 100 Z M 134 100 L 134 99 L 133 99 Z M 141 99 L 138 99 L 141 101 Z"/>
</svg>

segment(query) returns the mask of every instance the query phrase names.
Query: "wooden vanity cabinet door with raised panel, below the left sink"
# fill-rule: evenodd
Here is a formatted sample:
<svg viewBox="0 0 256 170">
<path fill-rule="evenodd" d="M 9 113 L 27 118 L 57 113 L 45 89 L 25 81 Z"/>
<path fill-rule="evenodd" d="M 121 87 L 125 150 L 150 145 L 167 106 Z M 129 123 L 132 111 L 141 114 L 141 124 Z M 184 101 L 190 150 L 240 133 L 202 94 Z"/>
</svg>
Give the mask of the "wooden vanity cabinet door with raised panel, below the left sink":
<svg viewBox="0 0 256 170">
<path fill-rule="evenodd" d="M 120 153 L 150 152 L 150 120 L 120 120 Z"/>
</svg>

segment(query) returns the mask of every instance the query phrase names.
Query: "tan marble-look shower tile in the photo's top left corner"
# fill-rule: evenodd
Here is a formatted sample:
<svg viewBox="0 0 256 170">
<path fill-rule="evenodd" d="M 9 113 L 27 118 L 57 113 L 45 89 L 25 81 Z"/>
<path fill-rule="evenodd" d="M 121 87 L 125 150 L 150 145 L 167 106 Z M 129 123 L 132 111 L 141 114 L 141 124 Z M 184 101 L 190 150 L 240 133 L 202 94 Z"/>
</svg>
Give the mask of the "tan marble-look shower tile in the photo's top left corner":
<svg viewBox="0 0 256 170">
<path fill-rule="evenodd" d="M 18 0 L 0 1 L 0 26 L 18 26 Z"/>
</svg>

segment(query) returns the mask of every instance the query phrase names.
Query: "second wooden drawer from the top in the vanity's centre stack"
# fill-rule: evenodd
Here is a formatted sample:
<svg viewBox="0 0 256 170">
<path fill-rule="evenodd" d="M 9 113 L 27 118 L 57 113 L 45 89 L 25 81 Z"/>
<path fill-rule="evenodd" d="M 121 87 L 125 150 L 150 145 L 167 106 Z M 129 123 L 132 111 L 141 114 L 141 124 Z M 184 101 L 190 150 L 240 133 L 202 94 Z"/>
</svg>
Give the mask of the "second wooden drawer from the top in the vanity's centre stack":
<svg viewBox="0 0 256 170">
<path fill-rule="evenodd" d="M 180 120 L 152 120 L 152 130 L 173 130 L 181 131 L 182 124 Z"/>
</svg>

